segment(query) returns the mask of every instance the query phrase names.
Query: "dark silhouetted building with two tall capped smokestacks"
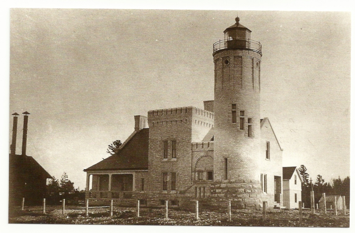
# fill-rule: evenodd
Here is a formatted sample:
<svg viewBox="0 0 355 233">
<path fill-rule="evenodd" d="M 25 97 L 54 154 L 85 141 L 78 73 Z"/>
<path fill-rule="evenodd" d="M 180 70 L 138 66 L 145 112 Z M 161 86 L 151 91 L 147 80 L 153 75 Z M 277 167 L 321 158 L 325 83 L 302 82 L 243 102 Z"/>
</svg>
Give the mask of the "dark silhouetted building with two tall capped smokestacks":
<svg viewBox="0 0 355 233">
<path fill-rule="evenodd" d="M 46 193 L 50 174 L 31 156 L 26 155 L 28 112 L 23 112 L 22 154 L 16 154 L 17 113 L 13 113 L 12 144 L 9 155 L 9 206 L 39 204 Z"/>
</svg>

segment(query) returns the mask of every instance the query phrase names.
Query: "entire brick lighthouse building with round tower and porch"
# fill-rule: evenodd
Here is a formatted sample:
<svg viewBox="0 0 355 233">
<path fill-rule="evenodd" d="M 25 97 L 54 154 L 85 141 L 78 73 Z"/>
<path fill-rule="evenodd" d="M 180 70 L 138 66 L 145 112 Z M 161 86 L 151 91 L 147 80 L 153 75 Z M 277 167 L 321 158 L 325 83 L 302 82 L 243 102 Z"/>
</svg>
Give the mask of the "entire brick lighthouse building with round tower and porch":
<svg viewBox="0 0 355 233">
<path fill-rule="evenodd" d="M 214 100 L 204 109 L 135 116 L 135 131 L 118 153 L 84 170 L 86 197 L 148 206 L 283 206 L 282 149 L 260 117 L 262 52 L 250 34 L 237 17 L 213 45 Z"/>
</svg>

